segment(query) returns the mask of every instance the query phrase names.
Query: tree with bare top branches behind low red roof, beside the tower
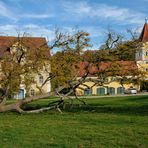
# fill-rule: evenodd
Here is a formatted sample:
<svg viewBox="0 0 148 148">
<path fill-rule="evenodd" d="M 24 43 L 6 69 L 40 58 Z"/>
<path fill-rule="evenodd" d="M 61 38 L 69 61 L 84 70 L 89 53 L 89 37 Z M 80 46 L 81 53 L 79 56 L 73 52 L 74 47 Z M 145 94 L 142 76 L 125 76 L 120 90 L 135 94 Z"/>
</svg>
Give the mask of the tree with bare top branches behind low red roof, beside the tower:
<svg viewBox="0 0 148 148">
<path fill-rule="evenodd" d="M 141 46 L 141 43 L 139 42 L 137 37 L 138 36 L 137 30 L 127 29 L 127 32 L 131 36 L 130 40 L 126 40 L 120 34 L 117 34 L 112 30 L 108 30 L 106 40 L 104 44 L 100 47 L 100 51 L 98 51 L 100 55 L 102 53 L 105 55 L 103 57 L 106 58 L 102 59 L 103 61 L 135 60 L 136 50 L 138 47 Z M 102 56 L 97 57 L 97 59 L 100 57 Z"/>
</svg>

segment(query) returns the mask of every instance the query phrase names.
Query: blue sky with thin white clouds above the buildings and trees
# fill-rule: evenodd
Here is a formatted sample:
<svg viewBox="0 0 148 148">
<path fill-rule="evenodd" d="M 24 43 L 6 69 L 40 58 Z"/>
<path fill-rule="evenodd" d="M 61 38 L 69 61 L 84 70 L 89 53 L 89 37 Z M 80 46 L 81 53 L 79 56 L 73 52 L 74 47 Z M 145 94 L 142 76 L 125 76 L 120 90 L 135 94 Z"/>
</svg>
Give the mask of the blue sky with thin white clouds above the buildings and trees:
<svg viewBox="0 0 148 148">
<path fill-rule="evenodd" d="M 141 31 L 148 17 L 148 0 L 0 0 L 0 35 L 27 32 L 51 41 L 59 28 L 90 33 L 93 48 L 105 40 L 108 28 L 126 37 Z"/>
</svg>

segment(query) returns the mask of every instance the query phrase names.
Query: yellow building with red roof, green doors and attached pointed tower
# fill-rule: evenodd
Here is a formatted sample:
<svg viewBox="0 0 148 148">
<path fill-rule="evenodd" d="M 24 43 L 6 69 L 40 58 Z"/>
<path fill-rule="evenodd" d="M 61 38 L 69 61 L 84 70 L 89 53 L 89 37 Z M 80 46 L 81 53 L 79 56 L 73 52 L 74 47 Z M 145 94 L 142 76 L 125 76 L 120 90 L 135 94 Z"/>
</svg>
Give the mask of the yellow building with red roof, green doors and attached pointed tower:
<svg viewBox="0 0 148 148">
<path fill-rule="evenodd" d="M 142 32 L 139 37 L 139 42 L 141 46 L 136 49 L 135 61 L 116 61 L 120 67 L 120 71 L 118 74 L 110 74 L 104 80 L 103 84 L 95 84 L 95 80 L 98 79 L 97 72 L 95 67 L 91 67 L 90 75 L 88 76 L 87 81 L 84 85 L 81 85 L 80 88 L 77 89 L 77 95 L 114 95 L 114 94 L 123 94 L 126 90 L 130 88 L 134 88 L 137 91 L 148 91 L 148 24 L 145 22 Z M 98 69 L 108 69 L 114 65 L 111 62 L 101 62 L 100 67 Z M 84 74 L 84 67 L 86 63 L 80 64 L 80 77 Z M 132 78 L 131 75 L 136 72 L 143 72 L 144 78 L 141 84 L 135 83 L 126 83 L 124 85 L 119 82 L 118 78 L 124 76 L 124 78 Z M 119 75 L 120 74 L 120 75 Z M 93 79 L 93 81 L 90 81 Z M 118 79 L 118 80 L 117 80 Z"/>
</svg>

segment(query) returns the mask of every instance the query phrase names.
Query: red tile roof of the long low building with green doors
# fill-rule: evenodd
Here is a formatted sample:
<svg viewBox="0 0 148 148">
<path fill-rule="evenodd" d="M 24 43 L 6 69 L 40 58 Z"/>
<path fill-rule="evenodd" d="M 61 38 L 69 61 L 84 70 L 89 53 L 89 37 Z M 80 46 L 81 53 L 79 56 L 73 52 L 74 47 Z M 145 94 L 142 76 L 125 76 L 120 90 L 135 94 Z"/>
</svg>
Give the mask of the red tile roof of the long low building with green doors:
<svg viewBox="0 0 148 148">
<path fill-rule="evenodd" d="M 86 67 L 89 64 L 87 62 L 80 63 L 79 76 L 85 74 Z M 131 75 L 136 73 L 138 67 L 135 61 L 114 61 L 114 62 L 101 62 L 98 65 L 90 64 L 88 66 L 88 71 L 90 76 L 95 76 L 99 73 L 107 73 L 110 76 L 113 75 Z"/>
</svg>

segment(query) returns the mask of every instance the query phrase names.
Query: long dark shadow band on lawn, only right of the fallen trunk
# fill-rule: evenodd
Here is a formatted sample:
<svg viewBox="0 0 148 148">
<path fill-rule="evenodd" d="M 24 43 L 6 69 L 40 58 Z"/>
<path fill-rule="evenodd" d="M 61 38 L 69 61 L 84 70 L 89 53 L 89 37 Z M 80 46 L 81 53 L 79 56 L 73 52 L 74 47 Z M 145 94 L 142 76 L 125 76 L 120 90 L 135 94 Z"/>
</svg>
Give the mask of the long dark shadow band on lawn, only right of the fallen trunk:
<svg viewBox="0 0 148 148">
<path fill-rule="evenodd" d="M 94 112 L 94 113 L 115 113 L 126 115 L 148 115 L 148 105 L 141 106 L 95 106 L 75 104 L 73 107 L 67 105 L 66 112 Z"/>
</svg>

